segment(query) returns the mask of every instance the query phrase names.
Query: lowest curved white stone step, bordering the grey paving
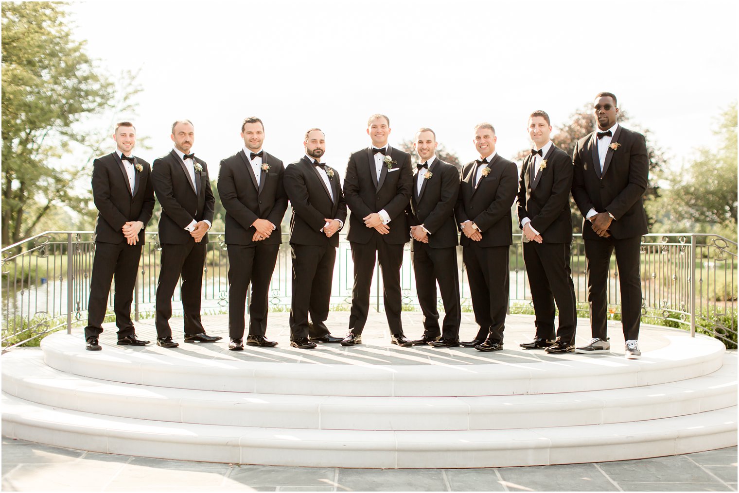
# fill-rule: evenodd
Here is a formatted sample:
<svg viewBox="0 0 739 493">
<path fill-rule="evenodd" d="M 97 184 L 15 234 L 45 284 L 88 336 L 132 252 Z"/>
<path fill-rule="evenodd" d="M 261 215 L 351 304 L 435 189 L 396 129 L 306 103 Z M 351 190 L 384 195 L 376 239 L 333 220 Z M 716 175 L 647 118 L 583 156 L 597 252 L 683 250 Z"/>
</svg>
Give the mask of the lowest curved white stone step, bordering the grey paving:
<svg viewBox="0 0 739 493">
<path fill-rule="evenodd" d="M 737 407 L 689 416 L 520 430 L 347 431 L 183 424 L 60 410 L 2 394 L 3 435 L 184 461 L 440 468 L 546 465 L 698 452 L 737 443 Z"/>
</svg>

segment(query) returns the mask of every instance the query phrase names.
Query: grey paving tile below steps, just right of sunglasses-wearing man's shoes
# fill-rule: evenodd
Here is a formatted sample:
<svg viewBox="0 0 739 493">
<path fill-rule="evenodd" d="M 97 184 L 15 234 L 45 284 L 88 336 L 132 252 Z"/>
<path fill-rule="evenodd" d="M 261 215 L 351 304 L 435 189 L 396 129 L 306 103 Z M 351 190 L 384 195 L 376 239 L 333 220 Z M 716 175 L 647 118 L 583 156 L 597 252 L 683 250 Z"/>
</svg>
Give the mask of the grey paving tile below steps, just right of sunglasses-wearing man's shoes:
<svg viewBox="0 0 739 493">
<path fill-rule="evenodd" d="M 716 478 L 682 455 L 638 461 L 599 462 L 598 465 L 617 483 L 639 480 L 665 483 L 717 483 Z"/>
</svg>

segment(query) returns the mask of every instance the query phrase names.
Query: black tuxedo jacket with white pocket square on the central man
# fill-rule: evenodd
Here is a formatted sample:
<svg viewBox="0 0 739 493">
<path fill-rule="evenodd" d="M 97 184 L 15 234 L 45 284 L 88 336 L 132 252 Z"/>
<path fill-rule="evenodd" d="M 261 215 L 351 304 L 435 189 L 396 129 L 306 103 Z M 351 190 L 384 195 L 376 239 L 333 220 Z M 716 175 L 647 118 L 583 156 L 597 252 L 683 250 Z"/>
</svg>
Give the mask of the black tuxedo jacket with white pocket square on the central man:
<svg viewBox="0 0 739 493">
<path fill-rule="evenodd" d="M 380 176 L 375 176 L 377 170 L 371 146 L 349 156 L 344 176 L 344 197 L 351 211 L 347 234 L 349 241 L 366 244 L 372 235 L 378 235 L 388 244 L 404 244 L 410 238 L 406 207 L 413 186 L 411 156 L 391 146 L 388 146 L 386 156 L 390 156 L 394 163 L 390 168 L 383 164 Z M 390 216 L 387 224 L 390 232 L 386 235 L 364 225 L 365 217 L 383 209 Z"/>
</svg>

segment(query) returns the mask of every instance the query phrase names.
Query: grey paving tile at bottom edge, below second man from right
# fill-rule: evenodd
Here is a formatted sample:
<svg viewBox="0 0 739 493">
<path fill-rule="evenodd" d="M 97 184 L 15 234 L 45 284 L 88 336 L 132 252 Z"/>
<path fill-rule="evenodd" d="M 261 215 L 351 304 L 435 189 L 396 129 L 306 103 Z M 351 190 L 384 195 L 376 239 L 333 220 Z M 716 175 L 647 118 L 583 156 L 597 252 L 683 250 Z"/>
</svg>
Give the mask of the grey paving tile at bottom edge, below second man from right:
<svg viewBox="0 0 739 493">
<path fill-rule="evenodd" d="M 572 492 L 618 491 L 593 464 L 557 466 L 501 467 L 498 469 L 511 492 L 534 490 Z"/>
</svg>

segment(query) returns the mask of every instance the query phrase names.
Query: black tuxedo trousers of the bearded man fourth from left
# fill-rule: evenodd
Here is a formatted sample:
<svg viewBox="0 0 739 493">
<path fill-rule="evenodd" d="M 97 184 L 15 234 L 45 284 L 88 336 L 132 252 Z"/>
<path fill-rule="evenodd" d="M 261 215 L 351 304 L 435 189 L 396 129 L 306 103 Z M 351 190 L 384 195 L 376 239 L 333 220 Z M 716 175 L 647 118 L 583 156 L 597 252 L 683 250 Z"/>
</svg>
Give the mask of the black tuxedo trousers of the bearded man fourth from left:
<svg viewBox="0 0 739 493">
<path fill-rule="evenodd" d="M 290 340 L 330 335 L 325 322 L 331 301 L 336 247 L 290 244 L 290 250 L 293 254 Z"/>
</svg>

